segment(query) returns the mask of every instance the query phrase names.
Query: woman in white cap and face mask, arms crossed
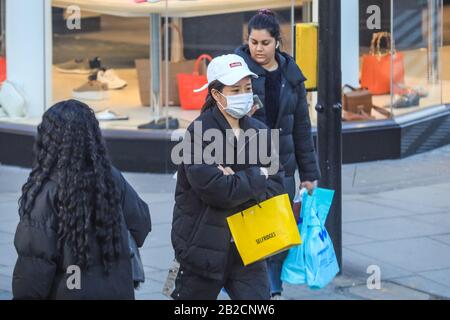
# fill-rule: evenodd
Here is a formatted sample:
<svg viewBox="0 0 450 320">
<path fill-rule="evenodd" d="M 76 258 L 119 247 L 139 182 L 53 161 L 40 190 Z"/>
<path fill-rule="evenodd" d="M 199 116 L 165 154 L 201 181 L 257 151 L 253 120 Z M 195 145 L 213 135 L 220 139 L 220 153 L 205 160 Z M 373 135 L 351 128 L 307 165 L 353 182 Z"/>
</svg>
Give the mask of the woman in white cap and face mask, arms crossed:
<svg viewBox="0 0 450 320">
<path fill-rule="evenodd" d="M 251 150 L 251 143 L 243 148 L 237 143 L 247 137 L 258 143 L 266 139 L 271 146 L 270 134 L 263 134 L 267 127 L 247 116 L 253 106 L 251 77 L 257 76 L 237 55 L 213 59 L 207 76 L 208 96 L 201 115 L 187 129 L 188 148 L 183 149 L 184 160 L 178 168 L 172 244 L 180 268 L 171 297 L 216 299 L 225 288 L 231 299 L 268 300 L 266 263 L 244 267 L 226 218 L 282 194 L 284 172 L 273 165 L 278 163 L 276 153 L 270 163 L 264 163 L 259 150 Z M 214 142 L 222 146 L 211 155 L 205 153 L 213 139 L 202 139 L 208 132 L 220 133 Z M 255 134 L 247 136 L 247 132 Z M 241 155 L 245 161 L 237 160 Z M 198 156 L 200 160 L 195 159 Z M 249 160 L 252 156 L 256 161 Z"/>
</svg>

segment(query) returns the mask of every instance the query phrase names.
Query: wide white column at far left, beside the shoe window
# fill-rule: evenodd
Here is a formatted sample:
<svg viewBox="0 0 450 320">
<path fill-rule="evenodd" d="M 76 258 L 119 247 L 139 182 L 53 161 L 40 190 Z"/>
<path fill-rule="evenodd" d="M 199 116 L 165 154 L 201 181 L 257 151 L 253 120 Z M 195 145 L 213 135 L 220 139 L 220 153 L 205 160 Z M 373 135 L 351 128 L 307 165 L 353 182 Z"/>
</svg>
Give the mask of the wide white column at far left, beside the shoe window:
<svg viewBox="0 0 450 320">
<path fill-rule="evenodd" d="M 51 0 L 6 0 L 7 78 L 25 96 L 29 117 L 51 97 Z"/>
</svg>

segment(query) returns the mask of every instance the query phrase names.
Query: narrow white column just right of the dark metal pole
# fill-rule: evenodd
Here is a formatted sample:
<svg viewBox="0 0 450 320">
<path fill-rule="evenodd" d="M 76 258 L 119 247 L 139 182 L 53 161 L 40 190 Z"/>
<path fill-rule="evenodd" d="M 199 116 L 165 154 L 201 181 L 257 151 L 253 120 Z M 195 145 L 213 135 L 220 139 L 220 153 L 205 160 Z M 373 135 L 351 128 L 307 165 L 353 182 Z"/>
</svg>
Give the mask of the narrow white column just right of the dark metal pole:
<svg viewBox="0 0 450 320">
<path fill-rule="evenodd" d="M 359 1 L 341 0 L 342 85 L 359 86 Z"/>
</svg>

